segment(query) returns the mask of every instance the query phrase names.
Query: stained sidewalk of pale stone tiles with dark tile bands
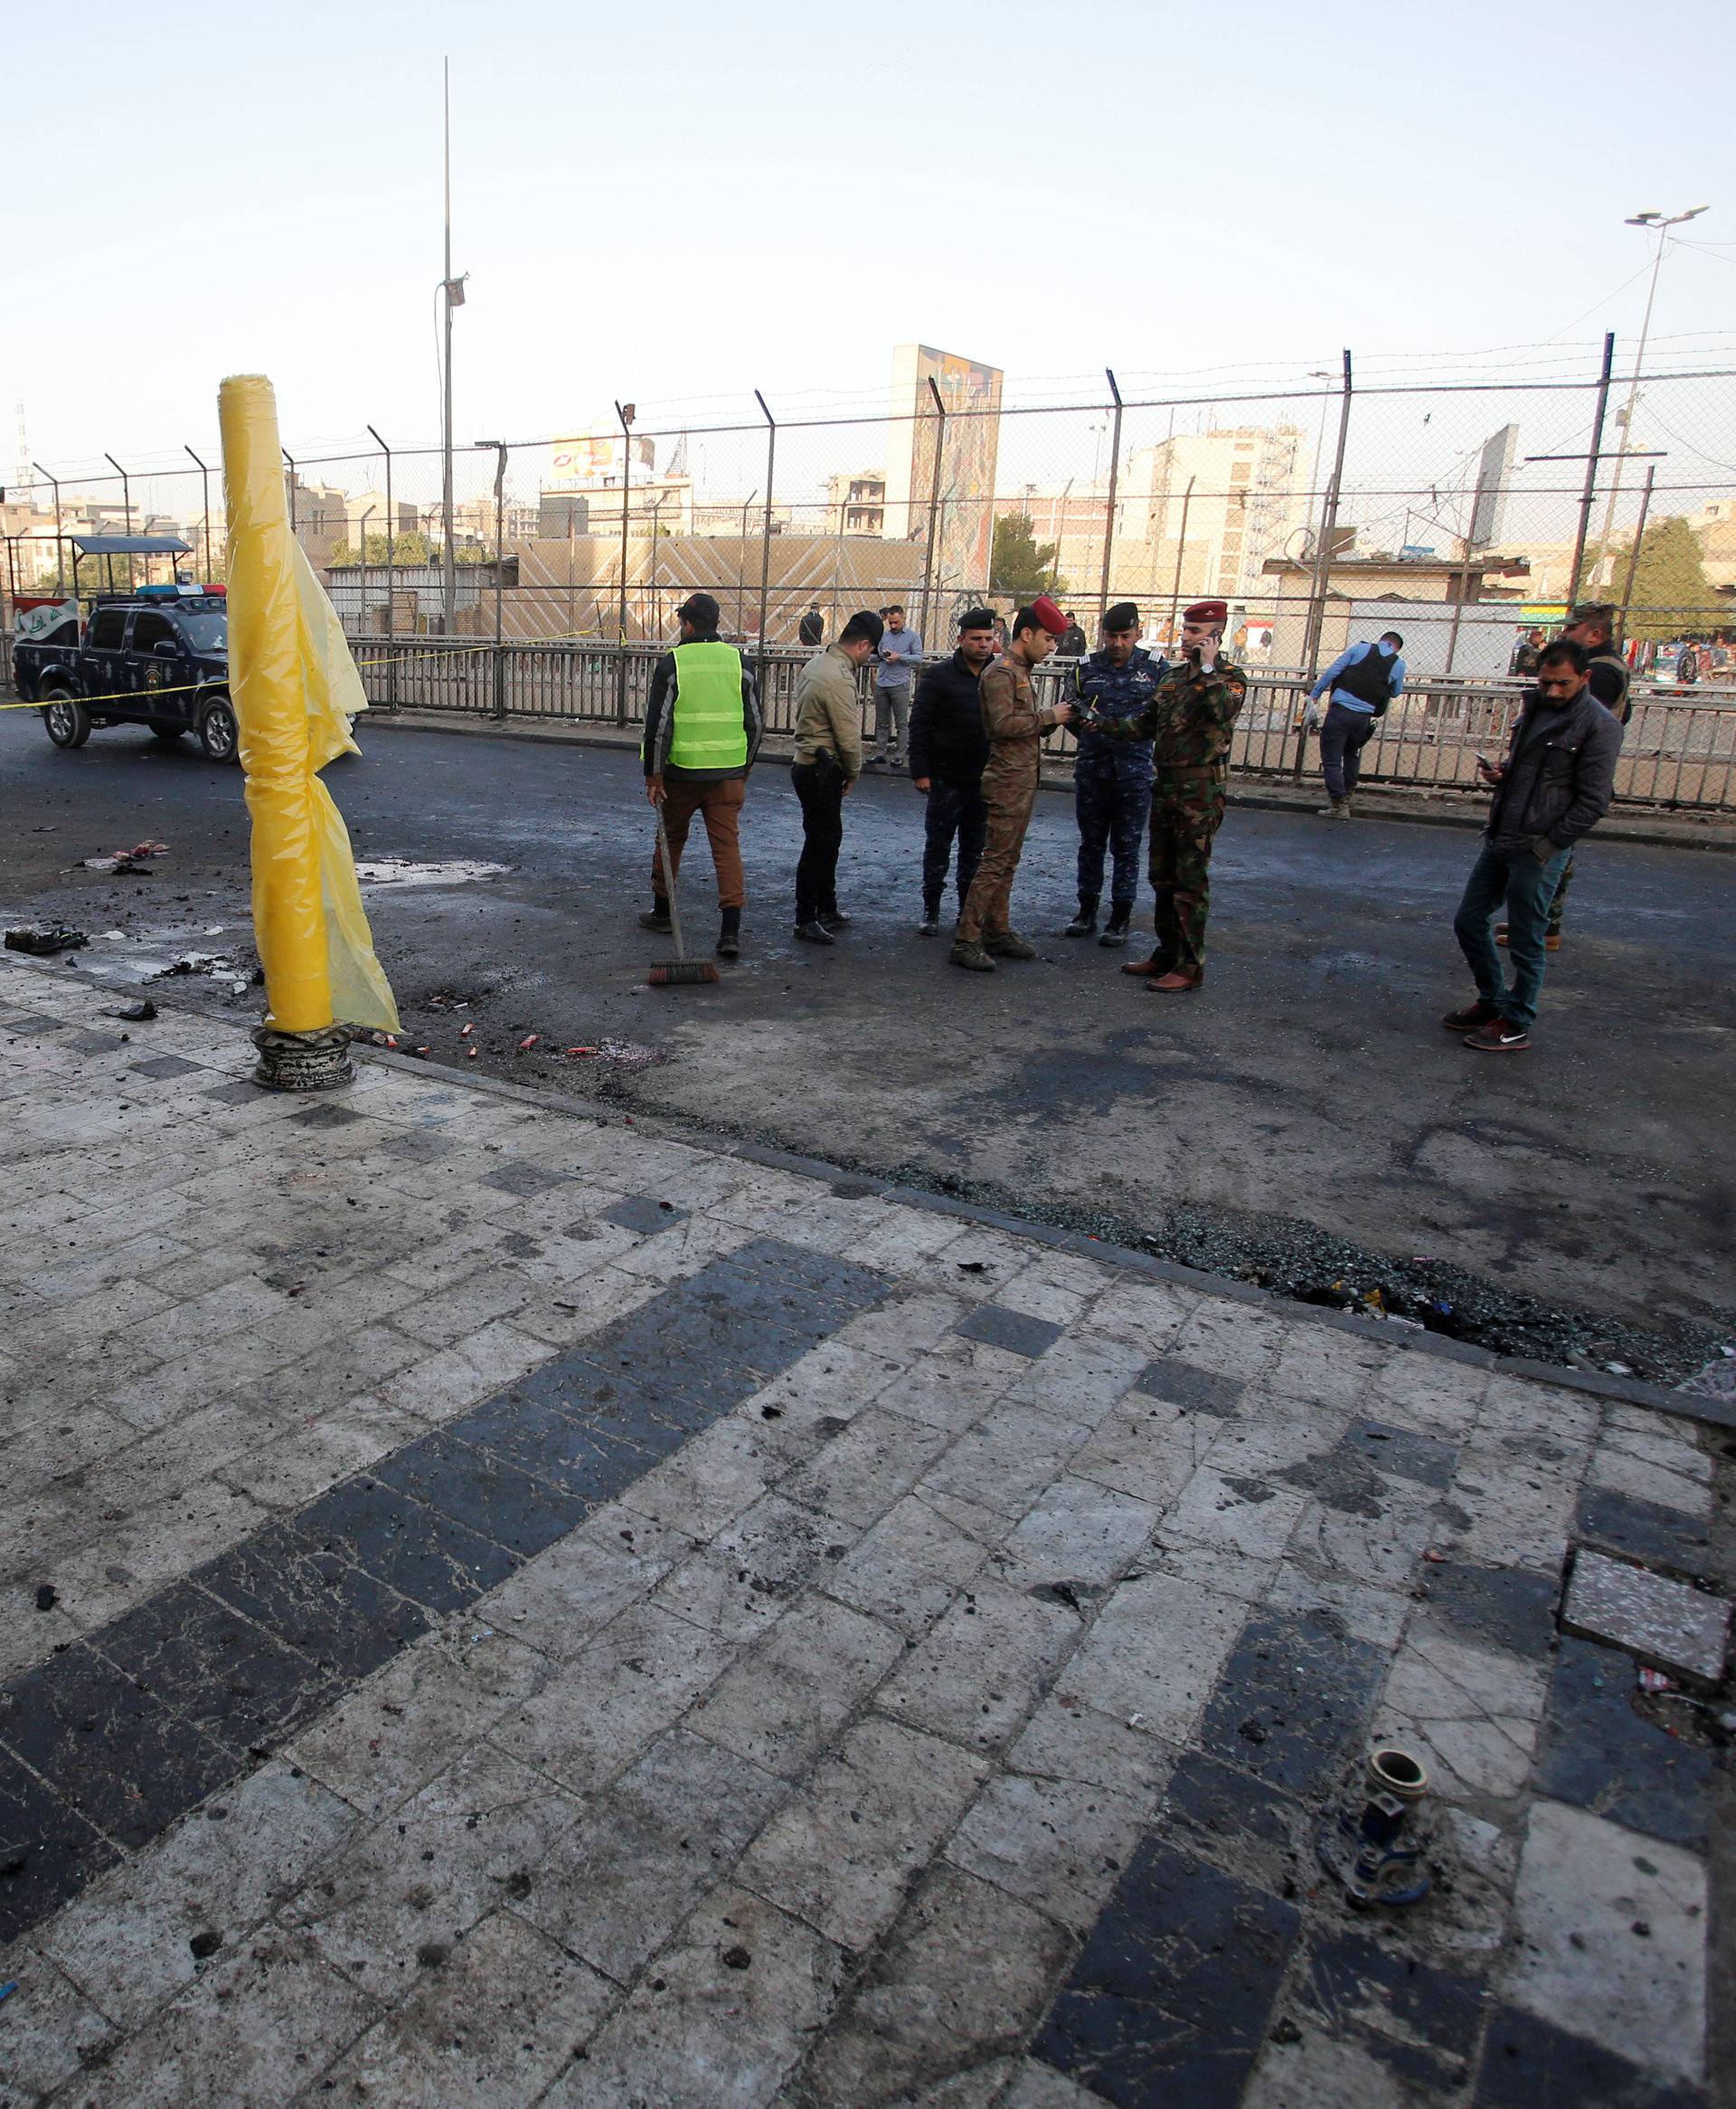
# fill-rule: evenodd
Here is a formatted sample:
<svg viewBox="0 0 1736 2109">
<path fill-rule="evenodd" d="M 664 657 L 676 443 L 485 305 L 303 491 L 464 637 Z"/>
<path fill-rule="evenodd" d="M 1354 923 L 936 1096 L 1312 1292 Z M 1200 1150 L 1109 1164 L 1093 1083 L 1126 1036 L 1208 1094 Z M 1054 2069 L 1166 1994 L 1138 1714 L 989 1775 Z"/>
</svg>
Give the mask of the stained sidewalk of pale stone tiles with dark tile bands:
<svg viewBox="0 0 1736 2109">
<path fill-rule="evenodd" d="M 4 2109 L 1706 2098 L 1706 1715 L 1557 1603 L 1728 1594 L 1723 1430 L 112 1004 L 0 964 Z"/>
</svg>

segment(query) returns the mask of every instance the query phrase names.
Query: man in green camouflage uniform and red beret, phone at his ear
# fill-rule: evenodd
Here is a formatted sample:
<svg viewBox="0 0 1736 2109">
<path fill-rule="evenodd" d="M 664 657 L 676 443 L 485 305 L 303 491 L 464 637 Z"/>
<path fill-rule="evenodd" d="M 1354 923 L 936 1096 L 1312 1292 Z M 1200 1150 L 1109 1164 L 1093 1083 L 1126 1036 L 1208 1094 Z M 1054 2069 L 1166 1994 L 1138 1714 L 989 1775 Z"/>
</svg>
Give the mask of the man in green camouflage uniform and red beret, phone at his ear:
<svg viewBox="0 0 1736 2109">
<path fill-rule="evenodd" d="M 1158 945 L 1129 962 L 1158 995 L 1198 989 L 1207 970 L 1211 839 L 1223 818 L 1230 734 L 1247 696 L 1247 675 L 1217 656 L 1230 610 L 1196 601 L 1181 616 L 1181 662 L 1158 681 L 1133 717 L 1091 723 L 1110 740 L 1152 740 L 1152 890 Z"/>
</svg>

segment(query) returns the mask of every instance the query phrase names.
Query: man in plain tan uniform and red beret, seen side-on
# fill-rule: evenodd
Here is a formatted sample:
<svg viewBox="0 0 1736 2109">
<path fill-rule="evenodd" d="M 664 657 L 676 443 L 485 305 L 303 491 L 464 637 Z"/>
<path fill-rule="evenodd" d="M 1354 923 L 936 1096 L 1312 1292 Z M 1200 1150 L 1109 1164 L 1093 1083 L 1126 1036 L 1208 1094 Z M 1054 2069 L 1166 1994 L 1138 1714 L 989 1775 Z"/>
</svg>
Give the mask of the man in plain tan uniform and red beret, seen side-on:
<svg viewBox="0 0 1736 2109">
<path fill-rule="evenodd" d="M 989 738 L 989 759 L 983 768 L 989 825 L 983 860 L 964 896 L 958 936 L 947 957 L 953 966 L 979 974 L 994 972 L 989 953 L 1002 960 L 1036 960 L 1036 945 L 1027 945 L 1010 924 L 1012 879 L 1038 797 L 1042 736 L 1053 725 L 1069 725 L 1076 715 L 1069 702 L 1040 711 L 1031 688 L 1031 669 L 1048 658 L 1065 628 L 1067 618 L 1046 593 L 1040 595 L 1012 618 L 1006 652 L 977 683 L 983 732 Z"/>
</svg>

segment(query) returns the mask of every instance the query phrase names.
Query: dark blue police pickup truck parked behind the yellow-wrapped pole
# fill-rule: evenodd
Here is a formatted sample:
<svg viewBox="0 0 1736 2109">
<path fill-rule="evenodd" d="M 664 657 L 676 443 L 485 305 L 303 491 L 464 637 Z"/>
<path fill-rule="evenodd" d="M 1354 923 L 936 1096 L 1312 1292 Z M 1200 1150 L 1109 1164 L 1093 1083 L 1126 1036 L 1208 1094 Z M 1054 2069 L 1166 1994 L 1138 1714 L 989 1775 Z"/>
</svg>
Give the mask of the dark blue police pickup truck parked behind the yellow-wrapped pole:
<svg viewBox="0 0 1736 2109">
<path fill-rule="evenodd" d="M 236 759 L 230 628 L 221 593 L 139 586 L 133 593 L 19 610 L 13 685 L 42 704 L 55 747 L 82 747 L 95 725 L 148 725 L 165 744 L 192 734 L 207 759 Z"/>
</svg>

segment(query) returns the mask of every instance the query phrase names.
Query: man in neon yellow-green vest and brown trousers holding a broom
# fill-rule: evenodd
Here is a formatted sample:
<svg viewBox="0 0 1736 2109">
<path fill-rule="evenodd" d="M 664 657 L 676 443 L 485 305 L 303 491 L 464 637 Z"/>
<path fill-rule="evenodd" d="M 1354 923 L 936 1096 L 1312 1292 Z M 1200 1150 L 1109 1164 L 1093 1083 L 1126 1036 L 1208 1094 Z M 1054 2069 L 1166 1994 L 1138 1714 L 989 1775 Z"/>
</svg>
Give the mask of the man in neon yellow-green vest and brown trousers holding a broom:
<svg viewBox="0 0 1736 2109">
<path fill-rule="evenodd" d="M 652 909 L 639 917 L 645 930 L 669 930 L 669 888 L 681 871 L 688 827 L 698 814 L 717 871 L 721 928 L 717 957 L 740 955 L 740 911 L 747 907 L 747 875 L 740 863 L 740 810 L 747 772 L 759 753 L 766 721 L 753 673 L 734 645 L 717 637 L 721 610 L 709 593 L 692 593 L 675 610 L 681 641 L 652 669 L 645 698 L 645 797 L 662 810 L 669 841 L 664 873 L 660 848 L 652 852 Z"/>
</svg>

